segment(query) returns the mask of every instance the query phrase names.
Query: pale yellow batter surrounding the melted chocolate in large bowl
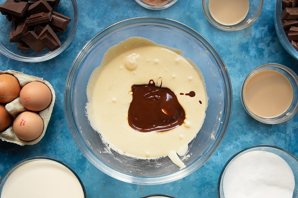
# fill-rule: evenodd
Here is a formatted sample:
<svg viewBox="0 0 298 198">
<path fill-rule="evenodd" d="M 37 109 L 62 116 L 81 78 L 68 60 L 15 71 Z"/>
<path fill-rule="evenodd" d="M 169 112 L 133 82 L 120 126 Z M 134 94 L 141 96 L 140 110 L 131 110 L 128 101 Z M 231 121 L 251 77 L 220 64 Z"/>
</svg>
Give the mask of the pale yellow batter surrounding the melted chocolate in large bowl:
<svg viewBox="0 0 298 198">
<path fill-rule="evenodd" d="M 188 143 L 201 129 L 208 98 L 197 66 L 180 53 L 141 37 L 128 38 L 105 53 L 87 85 L 86 113 L 111 149 L 142 159 L 169 156 L 185 167 L 178 155 L 187 152 Z M 176 94 L 186 114 L 181 126 L 164 132 L 138 132 L 129 126 L 131 86 L 148 84 L 150 79 Z M 185 95 L 190 91 L 194 97 Z"/>
</svg>

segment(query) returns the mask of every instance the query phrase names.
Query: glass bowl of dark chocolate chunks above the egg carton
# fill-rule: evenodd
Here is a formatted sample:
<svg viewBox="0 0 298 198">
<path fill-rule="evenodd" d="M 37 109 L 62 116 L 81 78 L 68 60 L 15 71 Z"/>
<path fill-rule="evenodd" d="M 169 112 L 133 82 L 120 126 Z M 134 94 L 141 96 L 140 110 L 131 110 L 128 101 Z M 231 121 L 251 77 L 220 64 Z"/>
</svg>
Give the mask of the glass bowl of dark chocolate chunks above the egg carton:
<svg viewBox="0 0 298 198">
<path fill-rule="evenodd" d="M 0 12 L 0 52 L 18 61 L 58 56 L 77 30 L 75 0 L 6 0 Z"/>
</svg>

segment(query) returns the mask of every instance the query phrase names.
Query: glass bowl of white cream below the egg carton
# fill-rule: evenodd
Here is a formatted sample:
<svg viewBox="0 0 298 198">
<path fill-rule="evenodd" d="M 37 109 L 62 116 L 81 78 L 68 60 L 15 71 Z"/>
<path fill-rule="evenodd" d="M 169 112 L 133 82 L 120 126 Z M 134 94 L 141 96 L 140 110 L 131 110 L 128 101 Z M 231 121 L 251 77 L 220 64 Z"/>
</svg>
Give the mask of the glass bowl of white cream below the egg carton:
<svg viewBox="0 0 298 198">
<path fill-rule="evenodd" d="M 32 157 L 13 165 L 0 180 L 1 198 L 86 198 L 79 176 L 60 160 Z"/>
</svg>

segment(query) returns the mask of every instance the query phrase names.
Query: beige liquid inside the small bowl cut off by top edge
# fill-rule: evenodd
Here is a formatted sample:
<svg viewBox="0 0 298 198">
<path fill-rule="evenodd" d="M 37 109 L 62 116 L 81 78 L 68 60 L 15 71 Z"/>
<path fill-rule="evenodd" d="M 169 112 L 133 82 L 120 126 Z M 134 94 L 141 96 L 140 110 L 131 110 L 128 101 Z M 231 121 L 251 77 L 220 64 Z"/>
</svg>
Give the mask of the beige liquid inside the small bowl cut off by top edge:
<svg viewBox="0 0 298 198">
<path fill-rule="evenodd" d="M 249 10 L 249 0 L 209 0 L 209 12 L 222 25 L 240 23 Z"/>
</svg>

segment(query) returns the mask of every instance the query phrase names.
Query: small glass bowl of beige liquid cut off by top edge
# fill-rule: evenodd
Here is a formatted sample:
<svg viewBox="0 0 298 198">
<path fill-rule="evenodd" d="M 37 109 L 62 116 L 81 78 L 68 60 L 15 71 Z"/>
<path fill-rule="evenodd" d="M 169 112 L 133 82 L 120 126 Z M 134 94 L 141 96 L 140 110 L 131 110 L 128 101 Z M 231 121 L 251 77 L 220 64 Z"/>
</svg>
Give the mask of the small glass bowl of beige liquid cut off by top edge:
<svg viewBox="0 0 298 198">
<path fill-rule="evenodd" d="M 254 23 L 263 9 L 263 0 L 202 0 L 209 22 L 224 31 L 237 31 Z"/>
</svg>

